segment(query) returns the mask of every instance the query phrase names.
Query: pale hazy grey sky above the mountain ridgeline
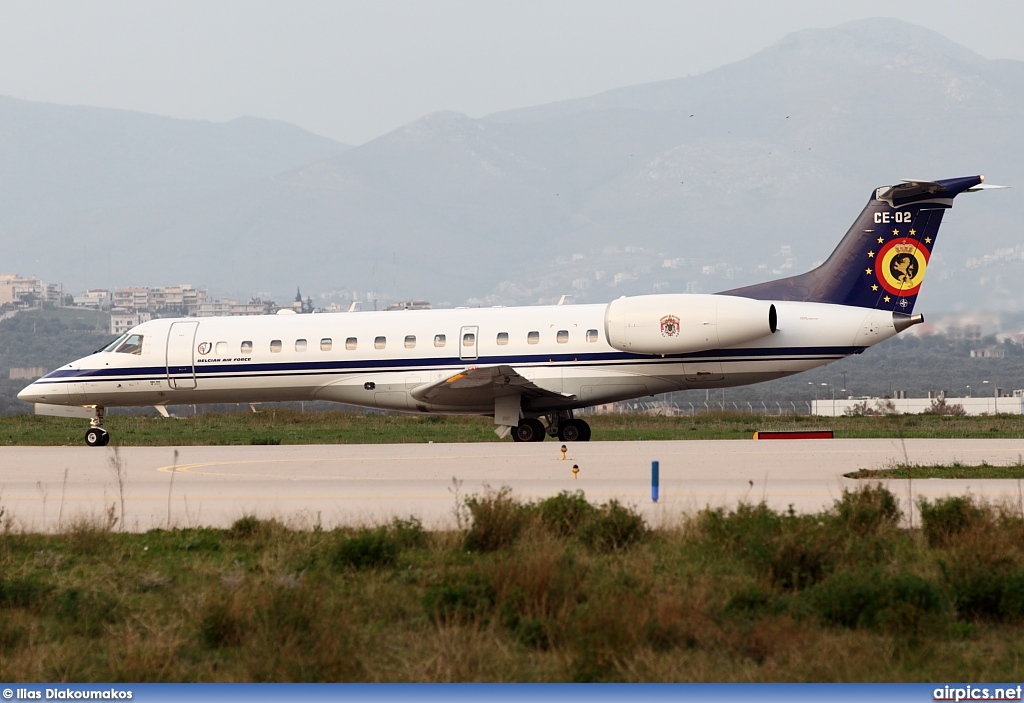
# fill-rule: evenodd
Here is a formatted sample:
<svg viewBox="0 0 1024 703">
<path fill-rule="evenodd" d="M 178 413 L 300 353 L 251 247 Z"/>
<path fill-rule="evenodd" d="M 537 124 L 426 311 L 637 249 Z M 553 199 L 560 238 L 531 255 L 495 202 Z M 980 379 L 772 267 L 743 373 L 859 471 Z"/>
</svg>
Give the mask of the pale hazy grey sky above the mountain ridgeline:
<svg viewBox="0 0 1024 703">
<path fill-rule="evenodd" d="M 790 32 L 893 16 L 1024 59 L 1024 2 L 946 0 L 0 0 L 0 95 L 226 121 L 361 143 L 692 75 Z"/>
</svg>

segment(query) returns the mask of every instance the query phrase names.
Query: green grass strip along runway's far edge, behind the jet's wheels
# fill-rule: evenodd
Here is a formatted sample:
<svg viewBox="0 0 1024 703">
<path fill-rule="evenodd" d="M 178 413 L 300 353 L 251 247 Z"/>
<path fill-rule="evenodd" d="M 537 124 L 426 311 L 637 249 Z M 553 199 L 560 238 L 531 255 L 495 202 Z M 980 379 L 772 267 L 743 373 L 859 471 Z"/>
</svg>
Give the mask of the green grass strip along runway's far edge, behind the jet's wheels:
<svg viewBox="0 0 1024 703">
<path fill-rule="evenodd" d="M 751 439 L 759 430 L 807 429 L 830 429 L 839 439 L 1024 437 L 1020 415 L 808 418 L 712 412 L 694 416 L 588 415 L 587 422 L 594 441 Z M 82 420 L 9 415 L 0 418 L 0 445 L 78 445 L 87 427 Z M 301 412 L 274 407 L 258 413 L 211 412 L 170 420 L 156 413 L 113 413 L 108 415 L 105 427 L 113 444 L 119 446 L 511 441 L 497 438 L 489 418 Z"/>
</svg>

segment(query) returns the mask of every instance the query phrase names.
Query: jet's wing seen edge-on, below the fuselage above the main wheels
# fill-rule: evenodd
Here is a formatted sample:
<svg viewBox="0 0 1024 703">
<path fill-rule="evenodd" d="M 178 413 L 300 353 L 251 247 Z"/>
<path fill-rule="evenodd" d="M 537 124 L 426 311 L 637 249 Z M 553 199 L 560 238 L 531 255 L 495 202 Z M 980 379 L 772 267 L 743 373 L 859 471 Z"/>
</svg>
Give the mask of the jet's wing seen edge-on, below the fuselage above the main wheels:
<svg viewBox="0 0 1024 703">
<path fill-rule="evenodd" d="M 417 386 L 410 395 L 438 405 L 487 405 L 496 398 L 521 395 L 526 398 L 570 399 L 571 395 L 541 388 L 512 366 L 472 366 L 446 379 Z"/>
</svg>

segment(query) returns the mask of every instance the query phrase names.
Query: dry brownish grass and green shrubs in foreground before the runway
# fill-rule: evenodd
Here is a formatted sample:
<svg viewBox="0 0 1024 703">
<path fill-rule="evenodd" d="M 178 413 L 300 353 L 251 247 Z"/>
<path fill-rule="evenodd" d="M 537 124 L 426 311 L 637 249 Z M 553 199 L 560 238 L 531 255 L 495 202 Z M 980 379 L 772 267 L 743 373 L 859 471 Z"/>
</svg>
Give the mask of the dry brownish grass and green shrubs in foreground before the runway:
<svg viewBox="0 0 1024 703">
<path fill-rule="evenodd" d="M 947 498 L 924 503 L 923 528 L 907 530 L 891 496 L 868 487 L 819 515 L 745 506 L 624 531 L 632 511 L 583 509 L 580 495 L 470 500 L 472 523 L 442 533 L 415 520 L 324 531 L 252 517 L 227 530 L 125 534 L 100 520 L 8 532 L 0 678 L 1019 674 L 1024 519 L 1010 509 Z M 515 534 L 496 541 L 509 525 Z"/>
</svg>

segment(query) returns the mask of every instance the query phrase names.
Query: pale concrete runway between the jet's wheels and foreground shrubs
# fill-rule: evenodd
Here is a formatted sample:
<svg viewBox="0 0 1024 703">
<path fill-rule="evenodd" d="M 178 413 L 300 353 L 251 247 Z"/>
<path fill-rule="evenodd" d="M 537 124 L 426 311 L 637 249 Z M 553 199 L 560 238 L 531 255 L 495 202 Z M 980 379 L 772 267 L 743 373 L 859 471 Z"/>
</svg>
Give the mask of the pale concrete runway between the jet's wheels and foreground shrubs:
<svg viewBox="0 0 1024 703">
<path fill-rule="evenodd" d="M 102 520 L 113 506 L 127 529 L 226 526 L 243 515 L 296 526 L 377 523 L 414 515 L 454 526 L 457 500 L 487 486 L 525 499 L 581 489 L 594 502 L 637 507 L 654 525 L 706 506 L 764 499 L 801 512 L 831 506 L 843 474 L 902 463 L 899 440 L 385 444 L 301 446 L 0 447 L 0 508 L 14 529 L 52 531 Z M 176 454 L 175 454 L 176 452 Z M 913 464 L 1013 464 L 1024 440 L 908 439 Z M 660 463 L 660 500 L 650 499 L 650 463 Z M 120 463 L 123 489 L 119 488 Z M 578 479 L 572 465 L 580 466 Z M 65 475 L 67 472 L 67 481 Z M 1020 499 L 1013 480 L 889 482 L 906 509 L 912 496 Z"/>
</svg>

